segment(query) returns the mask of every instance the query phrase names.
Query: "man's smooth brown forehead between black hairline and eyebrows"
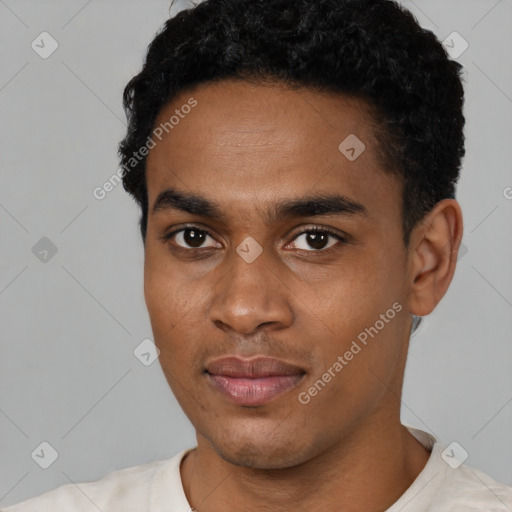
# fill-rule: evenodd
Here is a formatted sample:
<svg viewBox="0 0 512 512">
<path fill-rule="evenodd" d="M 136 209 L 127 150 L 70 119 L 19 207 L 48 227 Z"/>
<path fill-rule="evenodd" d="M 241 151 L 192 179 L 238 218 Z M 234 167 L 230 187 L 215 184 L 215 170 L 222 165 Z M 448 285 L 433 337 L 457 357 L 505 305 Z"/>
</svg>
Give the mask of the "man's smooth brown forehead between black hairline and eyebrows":
<svg viewBox="0 0 512 512">
<path fill-rule="evenodd" d="M 370 208 L 379 191 L 395 203 L 400 197 L 363 100 L 226 80 L 182 92 L 155 127 L 166 122 L 147 159 L 150 208 L 166 188 L 248 209 L 313 191 L 336 191 Z"/>
</svg>

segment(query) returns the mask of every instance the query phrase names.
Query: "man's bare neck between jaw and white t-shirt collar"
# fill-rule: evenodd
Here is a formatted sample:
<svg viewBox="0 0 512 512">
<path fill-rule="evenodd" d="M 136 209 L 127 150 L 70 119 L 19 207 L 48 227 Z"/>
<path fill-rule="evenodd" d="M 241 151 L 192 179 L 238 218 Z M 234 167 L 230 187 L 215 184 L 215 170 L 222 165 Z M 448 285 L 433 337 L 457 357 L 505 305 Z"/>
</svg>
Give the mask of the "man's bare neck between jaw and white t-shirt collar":
<svg viewBox="0 0 512 512">
<path fill-rule="evenodd" d="M 430 453 L 400 424 L 368 418 L 315 458 L 283 469 L 235 466 L 198 435 L 181 465 L 185 495 L 197 512 L 365 510 L 389 508 Z M 385 427 L 383 427 L 385 425 Z"/>
</svg>

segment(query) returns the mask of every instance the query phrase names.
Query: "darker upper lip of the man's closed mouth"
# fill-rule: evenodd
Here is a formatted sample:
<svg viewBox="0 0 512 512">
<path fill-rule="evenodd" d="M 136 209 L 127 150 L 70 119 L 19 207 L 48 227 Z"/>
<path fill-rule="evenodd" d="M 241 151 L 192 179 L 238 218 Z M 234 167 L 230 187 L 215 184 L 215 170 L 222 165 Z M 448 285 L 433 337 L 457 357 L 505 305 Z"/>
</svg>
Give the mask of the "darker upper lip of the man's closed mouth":
<svg viewBox="0 0 512 512">
<path fill-rule="evenodd" d="M 234 378 L 262 378 L 276 375 L 302 375 L 305 370 L 299 366 L 285 363 L 274 357 L 255 357 L 241 359 L 230 356 L 216 359 L 206 365 L 206 371 L 211 375 L 224 375 Z"/>
</svg>

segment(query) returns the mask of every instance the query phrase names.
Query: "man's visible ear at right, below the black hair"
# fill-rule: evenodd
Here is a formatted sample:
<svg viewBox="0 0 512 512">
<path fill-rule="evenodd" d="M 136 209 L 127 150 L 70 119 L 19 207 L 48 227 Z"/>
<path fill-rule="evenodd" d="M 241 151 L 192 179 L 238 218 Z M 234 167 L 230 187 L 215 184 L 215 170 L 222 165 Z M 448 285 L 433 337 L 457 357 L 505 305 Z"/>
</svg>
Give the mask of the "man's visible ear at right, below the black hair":
<svg viewBox="0 0 512 512">
<path fill-rule="evenodd" d="M 448 290 L 462 240 L 462 211 L 443 199 L 413 230 L 409 245 L 409 312 L 430 314 Z"/>
</svg>

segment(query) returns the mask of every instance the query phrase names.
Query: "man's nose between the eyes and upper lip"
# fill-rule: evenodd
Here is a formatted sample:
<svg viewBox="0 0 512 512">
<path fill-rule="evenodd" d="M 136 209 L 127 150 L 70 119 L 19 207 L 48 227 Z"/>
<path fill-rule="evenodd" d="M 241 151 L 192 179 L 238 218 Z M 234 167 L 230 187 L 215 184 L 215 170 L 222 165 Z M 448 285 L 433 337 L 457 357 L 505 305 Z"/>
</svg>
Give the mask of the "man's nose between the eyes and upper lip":
<svg viewBox="0 0 512 512">
<path fill-rule="evenodd" d="M 248 263 L 233 251 L 225 264 L 227 273 L 214 288 L 209 310 L 219 329 L 247 335 L 263 326 L 283 329 L 291 325 L 292 293 L 270 255 L 263 251 Z"/>
</svg>

